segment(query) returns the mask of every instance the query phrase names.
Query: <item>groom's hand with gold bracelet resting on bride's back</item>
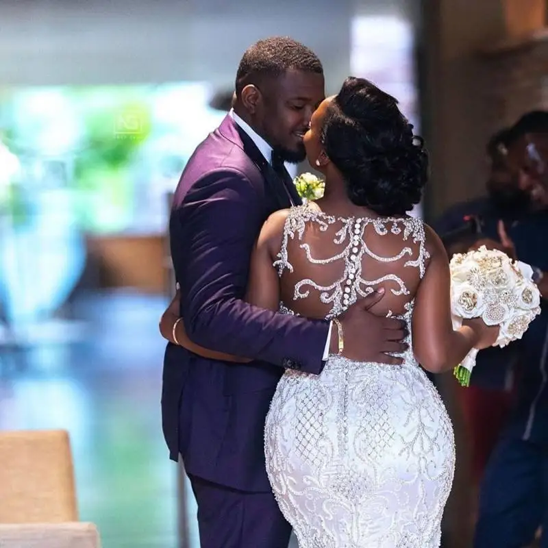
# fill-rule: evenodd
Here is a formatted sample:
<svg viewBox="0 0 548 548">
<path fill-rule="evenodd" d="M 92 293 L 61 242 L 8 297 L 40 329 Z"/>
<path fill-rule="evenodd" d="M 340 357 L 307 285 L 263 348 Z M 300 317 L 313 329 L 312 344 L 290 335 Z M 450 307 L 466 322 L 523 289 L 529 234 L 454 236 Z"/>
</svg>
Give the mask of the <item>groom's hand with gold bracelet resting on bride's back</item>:
<svg viewBox="0 0 548 548">
<path fill-rule="evenodd" d="M 403 343 L 407 336 L 406 324 L 395 318 L 375 316 L 371 308 L 384 296 L 384 290 L 375 291 L 368 297 L 356 301 L 338 320 L 343 326 L 343 356 L 360 362 L 380 362 L 398 365 L 401 358 L 391 353 L 406 351 Z M 336 325 L 332 329 L 330 349 L 338 352 L 338 334 Z"/>
</svg>

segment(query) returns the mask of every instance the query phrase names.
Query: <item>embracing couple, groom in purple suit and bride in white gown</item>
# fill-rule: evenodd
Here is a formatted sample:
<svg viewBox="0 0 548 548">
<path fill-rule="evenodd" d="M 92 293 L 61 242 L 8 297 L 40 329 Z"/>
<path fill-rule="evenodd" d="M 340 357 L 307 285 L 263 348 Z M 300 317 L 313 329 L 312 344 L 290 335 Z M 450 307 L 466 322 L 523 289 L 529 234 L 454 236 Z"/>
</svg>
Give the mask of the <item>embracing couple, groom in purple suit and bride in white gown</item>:
<svg viewBox="0 0 548 548">
<path fill-rule="evenodd" d="M 284 162 L 305 157 L 325 195 L 302 205 Z M 393 97 L 349 78 L 325 99 L 290 38 L 246 51 L 175 192 L 161 322 L 164 435 L 203 548 L 286 548 L 291 527 L 301 548 L 439 546 L 455 447 L 421 366 L 498 329 L 453 331 L 443 245 L 406 214 L 426 179 Z"/>
</svg>

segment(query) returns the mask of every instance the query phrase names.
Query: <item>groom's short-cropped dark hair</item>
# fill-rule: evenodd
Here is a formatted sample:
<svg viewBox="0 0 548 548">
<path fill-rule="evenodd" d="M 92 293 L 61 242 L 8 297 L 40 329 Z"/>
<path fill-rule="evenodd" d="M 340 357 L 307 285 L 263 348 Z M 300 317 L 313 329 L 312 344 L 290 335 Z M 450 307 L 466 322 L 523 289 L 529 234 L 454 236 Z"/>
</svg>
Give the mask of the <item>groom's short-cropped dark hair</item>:
<svg viewBox="0 0 548 548">
<path fill-rule="evenodd" d="M 287 36 L 259 40 L 244 53 L 236 73 L 236 95 L 245 86 L 260 87 L 265 77 L 278 77 L 289 70 L 323 74 L 323 66 L 312 49 Z"/>
</svg>

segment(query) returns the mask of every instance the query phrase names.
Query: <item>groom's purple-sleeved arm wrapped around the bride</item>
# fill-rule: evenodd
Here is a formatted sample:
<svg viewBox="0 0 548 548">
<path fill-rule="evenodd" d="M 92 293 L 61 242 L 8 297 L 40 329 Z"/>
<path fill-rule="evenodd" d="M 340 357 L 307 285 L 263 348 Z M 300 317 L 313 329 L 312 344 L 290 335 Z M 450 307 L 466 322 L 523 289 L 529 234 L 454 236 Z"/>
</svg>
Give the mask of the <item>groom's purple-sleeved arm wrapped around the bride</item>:
<svg viewBox="0 0 548 548">
<path fill-rule="evenodd" d="M 197 182 L 171 217 L 172 256 L 184 288 L 189 338 L 215 351 L 319 373 L 325 321 L 278 314 L 242 300 L 264 199 L 245 175 L 223 170 Z"/>
</svg>

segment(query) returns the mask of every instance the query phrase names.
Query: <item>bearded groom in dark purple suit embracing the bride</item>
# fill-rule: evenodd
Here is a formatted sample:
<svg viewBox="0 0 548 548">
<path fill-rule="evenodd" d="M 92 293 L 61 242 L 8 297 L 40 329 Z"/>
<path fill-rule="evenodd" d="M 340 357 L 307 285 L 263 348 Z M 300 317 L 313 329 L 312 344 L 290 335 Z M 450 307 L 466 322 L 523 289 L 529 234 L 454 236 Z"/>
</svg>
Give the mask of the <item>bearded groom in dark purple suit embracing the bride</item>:
<svg viewBox="0 0 548 548">
<path fill-rule="evenodd" d="M 265 219 L 300 203 L 284 162 L 305 158 L 303 134 L 324 97 L 321 62 L 290 38 L 244 54 L 234 109 L 190 158 L 175 192 L 171 253 L 188 336 L 203 347 L 254 358 L 229 364 L 169 344 L 162 417 L 171 458 L 182 455 L 198 503 L 202 548 L 287 548 L 290 526 L 266 477 L 263 429 L 284 369 L 319 374 L 336 329 L 242 301 L 253 243 Z M 340 318 L 345 351 L 399 363 L 401 323 L 367 311 Z M 394 343 L 394 341 L 398 341 Z"/>
</svg>

